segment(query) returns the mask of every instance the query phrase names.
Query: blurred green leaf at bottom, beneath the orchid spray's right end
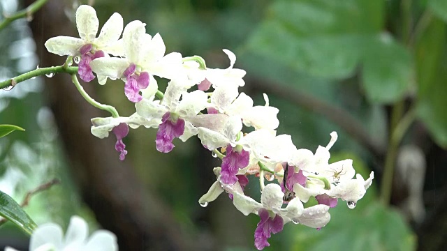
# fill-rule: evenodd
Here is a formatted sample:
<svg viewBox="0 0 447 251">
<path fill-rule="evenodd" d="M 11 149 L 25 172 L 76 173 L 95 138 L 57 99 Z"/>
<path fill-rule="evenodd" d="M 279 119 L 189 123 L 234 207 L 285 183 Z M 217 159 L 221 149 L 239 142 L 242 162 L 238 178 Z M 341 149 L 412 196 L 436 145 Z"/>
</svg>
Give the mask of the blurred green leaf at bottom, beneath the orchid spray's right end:
<svg viewBox="0 0 447 251">
<path fill-rule="evenodd" d="M 369 191 L 368 191 L 369 192 Z M 340 202 L 340 201 L 339 201 Z M 365 201 L 360 201 L 363 203 Z M 331 220 L 320 231 L 295 230 L 291 250 L 415 250 L 416 236 L 406 225 L 402 215 L 379 202 L 372 202 L 364 210 L 353 210 L 339 205 L 330 210 Z"/>
</svg>

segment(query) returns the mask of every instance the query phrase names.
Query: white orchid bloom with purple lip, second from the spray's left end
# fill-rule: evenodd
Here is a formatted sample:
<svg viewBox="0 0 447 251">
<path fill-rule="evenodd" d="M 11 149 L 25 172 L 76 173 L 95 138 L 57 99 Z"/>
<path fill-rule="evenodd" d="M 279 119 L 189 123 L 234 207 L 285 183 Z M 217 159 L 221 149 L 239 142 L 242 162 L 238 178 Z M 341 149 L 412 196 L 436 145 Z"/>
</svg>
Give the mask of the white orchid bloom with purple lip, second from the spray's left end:
<svg viewBox="0 0 447 251">
<path fill-rule="evenodd" d="M 175 79 L 183 75 L 182 55 L 178 52 L 166 56 L 163 39 L 156 33 L 152 38 L 146 33 L 144 23 L 133 21 L 123 33 L 124 58 L 99 58 L 91 61 L 91 69 L 98 75 L 111 79 L 126 79 L 124 93 L 132 102 L 142 100 L 140 90 L 149 85 L 150 75 Z"/>
</svg>

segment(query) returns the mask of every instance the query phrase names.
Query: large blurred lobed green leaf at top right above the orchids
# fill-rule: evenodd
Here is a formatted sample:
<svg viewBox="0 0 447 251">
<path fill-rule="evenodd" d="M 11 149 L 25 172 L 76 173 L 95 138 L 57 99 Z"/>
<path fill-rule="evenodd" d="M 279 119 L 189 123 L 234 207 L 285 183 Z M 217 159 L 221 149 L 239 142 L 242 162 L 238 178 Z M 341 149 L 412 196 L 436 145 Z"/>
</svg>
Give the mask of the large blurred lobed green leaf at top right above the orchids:
<svg viewBox="0 0 447 251">
<path fill-rule="evenodd" d="M 409 51 L 383 33 L 383 1 L 276 1 L 248 47 L 283 67 L 345 78 L 362 68 L 365 95 L 394 102 L 411 79 Z"/>
</svg>

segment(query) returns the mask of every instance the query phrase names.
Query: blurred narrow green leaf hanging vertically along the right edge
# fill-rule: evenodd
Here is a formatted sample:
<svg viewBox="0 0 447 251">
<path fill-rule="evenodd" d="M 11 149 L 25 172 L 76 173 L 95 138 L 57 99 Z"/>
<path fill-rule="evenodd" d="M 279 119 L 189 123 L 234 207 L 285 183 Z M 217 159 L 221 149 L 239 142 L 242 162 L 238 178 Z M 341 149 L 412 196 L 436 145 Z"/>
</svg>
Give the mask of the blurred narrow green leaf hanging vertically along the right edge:
<svg viewBox="0 0 447 251">
<path fill-rule="evenodd" d="M 418 102 L 416 112 L 434 140 L 447 147 L 446 24 L 433 19 L 416 44 Z"/>
</svg>

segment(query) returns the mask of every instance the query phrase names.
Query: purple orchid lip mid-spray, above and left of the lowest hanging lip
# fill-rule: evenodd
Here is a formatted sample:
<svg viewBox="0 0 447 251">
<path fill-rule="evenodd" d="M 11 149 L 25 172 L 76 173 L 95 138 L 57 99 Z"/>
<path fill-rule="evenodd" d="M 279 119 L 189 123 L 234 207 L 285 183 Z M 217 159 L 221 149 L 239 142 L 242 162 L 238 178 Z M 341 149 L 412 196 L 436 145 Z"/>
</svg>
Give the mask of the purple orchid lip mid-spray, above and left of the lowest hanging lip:
<svg viewBox="0 0 447 251">
<path fill-rule="evenodd" d="M 228 144 L 226 147 L 227 155 L 222 159 L 221 181 L 228 185 L 233 185 L 237 181 L 236 174 L 239 169 L 247 167 L 250 162 L 250 153 L 244 149 L 235 151 Z"/>
</svg>

